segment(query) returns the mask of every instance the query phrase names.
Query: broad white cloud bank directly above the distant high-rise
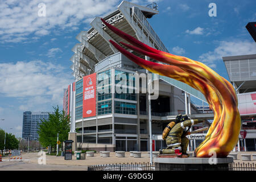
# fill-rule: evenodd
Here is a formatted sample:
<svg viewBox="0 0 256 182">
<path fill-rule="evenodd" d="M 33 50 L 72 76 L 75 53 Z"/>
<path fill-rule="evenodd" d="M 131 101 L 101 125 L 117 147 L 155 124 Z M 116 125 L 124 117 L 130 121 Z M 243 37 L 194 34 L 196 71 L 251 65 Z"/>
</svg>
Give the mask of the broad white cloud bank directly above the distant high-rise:
<svg viewBox="0 0 256 182">
<path fill-rule="evenodd" d="M 2 63 L 0 69 L 0 93 L 16 98 L 20 110 L 62 106 L 63 88 L 73 82 L 61 65 L 40 60 Z"/>
</svg>

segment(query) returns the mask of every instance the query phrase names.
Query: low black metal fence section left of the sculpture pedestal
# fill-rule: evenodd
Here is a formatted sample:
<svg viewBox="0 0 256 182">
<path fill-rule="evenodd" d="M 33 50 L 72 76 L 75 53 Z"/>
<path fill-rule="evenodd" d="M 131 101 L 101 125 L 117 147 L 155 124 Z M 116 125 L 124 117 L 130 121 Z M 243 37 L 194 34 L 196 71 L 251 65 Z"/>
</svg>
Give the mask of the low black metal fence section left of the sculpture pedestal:
<svg viewBox="0 0 256 182">
<path fill-rule="evenodd" d="M 88 171 L 155 171 L 155 164 L 150 163 L 119 163 L 88 166 Z"/>
</svg>

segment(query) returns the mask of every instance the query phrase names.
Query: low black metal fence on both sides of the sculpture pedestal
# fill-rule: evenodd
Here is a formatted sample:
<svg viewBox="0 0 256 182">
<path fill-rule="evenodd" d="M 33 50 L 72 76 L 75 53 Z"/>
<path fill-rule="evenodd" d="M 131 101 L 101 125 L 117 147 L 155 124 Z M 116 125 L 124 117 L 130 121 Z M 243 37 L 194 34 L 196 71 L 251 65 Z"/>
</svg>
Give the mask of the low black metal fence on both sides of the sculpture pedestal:
<svg viewBox="0 0 256 182">
<path fill-rule="evenodd" d="M 155 164 L 152 163 L 119 163 L 101 164 L 88 166 L 88 171 L 155 171 Z M 229 164 L 229 171 L 256 171 L 254 163 L 232 163 Z"/>
</svg>

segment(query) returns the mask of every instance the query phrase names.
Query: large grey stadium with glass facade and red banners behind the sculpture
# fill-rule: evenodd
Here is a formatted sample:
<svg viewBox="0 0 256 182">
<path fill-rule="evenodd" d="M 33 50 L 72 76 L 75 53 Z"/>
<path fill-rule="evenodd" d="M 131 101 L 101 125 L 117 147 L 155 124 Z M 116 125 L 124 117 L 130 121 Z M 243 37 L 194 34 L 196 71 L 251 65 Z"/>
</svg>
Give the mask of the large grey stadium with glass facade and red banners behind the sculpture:
<svg viewBox="0 0 256 182">
<path fill-rule="evenodd" d="M 115 11 L 101 18 L 148 46 L 168 52 L 166 46 L 154 31 L 154 27 L 147 20 L 158 13 L 156 3 L 144 7 L 122 1 Z M 152 79 L 146 77 L 146 82 L 152 81 L 152 89 L 154 85 L 158 85 L 153 89 L 154 92 L 157 91 L 158 93 L 155 100 L 149 101 L 148 92 L 143 92 L 145 89 L 143 78 L 139 80 L 139 86 L 135 86 L 135 84 L 123 85 L 133 92 L 111 92 L 121 81 L 118 78 L 125 76 L 133 82 L 134 78 L 131 75 L 144 74 L 147 76 L 148 73 L 145 69 L 127 59 L 109 43 L 109 40 L 116 43 L 127 43 L 127 41 L 110 31 L 101 22 L 100 17 L 94 18 L 90 22 L 90 26 L 89 30 L 81 31 L 76 37 L 78 43 L 72 48 L 74 54 L 70 59 L 75 81 L 64 89 L 63 108 L 71 116 L 69 139 L 74 141 L 74 151 L 77 149 L 149 151 L 151 133 L 152 150 L 158 151 L 160 148 L 166 147 L 166 143 L 162 140 L 162 132 L 166 125 L 176 118 L 177 114 L 187 114 L 191 118 L 207 120 L 203 124 L 192 126 L 192 131 L 210 126 L 213 113 L 209 109 L 204 110 L 207 105 L 204 95 L 183 82 L 172 78 L 154 74 Z M 133 53 L 143 59 L 155 61 L 139 53 Z M 241 102 L 246 102 L 243 105 L 241 104 L 240 109 L 247 108 L 245 105 L 253 106 L 249 113 L 246 110 L 245 115 L 241 114 L 242 129 L 248 134 L 245 136 L 242 133 L 240 142 L 234 150 L 255 151 L 256 130 L 254 121 L 256 105 L 253 100 L 256 98 L 254 96 L 256 94 L 256 78 L 236 80 L 236 77 L 232 76 L 236 75 L 234 73 L 236 71 L 232 69 L 233 66 L 231 65 L 235 63 L 234 60 L 238 63 L 248 60 L 254 65 L 256 64 L 256 55 L 230 56 L 223 59 L 230 81 L 237 90 L 238 99 L 241 98 Z M 241 69 L 239 72 L 241 72 Z M 102 82 L 104 82 L 103 86 Z M 102 90 L 104 92 L 100 92 Z M 247 96 L 243 96 L 246 94 L 250 95 L 252 100 L 245 101 L 242 97 L 247 98 Z M 191 100 L 192 97 L 200 100 L 203 106 L 200 107 L 194 104 Z M 205 134 L 204 132 L 191 135 L 188 151 L 195 150 L 204 139 Z"/>
</svg>

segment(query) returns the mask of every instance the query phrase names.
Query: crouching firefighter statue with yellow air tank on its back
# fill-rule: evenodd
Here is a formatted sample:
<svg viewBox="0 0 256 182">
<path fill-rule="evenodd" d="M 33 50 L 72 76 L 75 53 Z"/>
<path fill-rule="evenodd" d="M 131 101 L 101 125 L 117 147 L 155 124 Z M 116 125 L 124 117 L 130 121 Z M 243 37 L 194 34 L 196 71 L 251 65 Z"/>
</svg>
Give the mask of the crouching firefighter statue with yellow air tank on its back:
<svg viewBox="0 0 256 182">
<path fill-rule="evenodd" d="M 177 115 L 176 121 L 170 122 L 163 131 L 162 138 L 166 140 L 167 148 L 159 150 L 161 154 L 177 154 L 188 157 L 187 147 L 189 139 L 185 137 L 192 125 L 204 122 L 204 119 L 189 119 L 187 115 Z M 187 130 L 185 128 L 188 127 Z"/>
</svg>

